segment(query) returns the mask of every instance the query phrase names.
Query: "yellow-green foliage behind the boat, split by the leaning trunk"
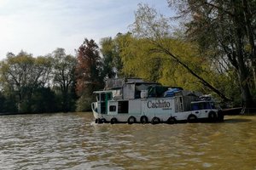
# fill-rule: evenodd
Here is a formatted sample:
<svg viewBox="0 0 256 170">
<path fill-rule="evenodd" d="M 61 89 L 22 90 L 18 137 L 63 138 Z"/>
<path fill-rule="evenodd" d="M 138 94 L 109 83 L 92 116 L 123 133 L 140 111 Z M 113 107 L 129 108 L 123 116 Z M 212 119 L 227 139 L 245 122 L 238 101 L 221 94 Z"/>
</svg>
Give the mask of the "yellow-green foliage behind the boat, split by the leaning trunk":
<svg viewBox="0 0 256 170">
<path fill-rule="evenodd" d="M 127 37 L 125 37 L 127 40 Z M 166 38 L 164 45 L 172 48 L 173 53 L 179 55 L 198 74 L 206 71 L 208 62 L 200 54 L 196 54 L 195 46 L 189 42 Z M 129 37 L 122 46 L 120 54 L 124 62 L 123 72 L 126 77 L 141 77 L 152 82 L 161 82 L 168 86 L 179 86 L 191 90 L 202 90 L 201 83 L 183 66 L 178 65 L 168 55 L 154 50 L 154 44 L 145 38 Z"/>
</svg>

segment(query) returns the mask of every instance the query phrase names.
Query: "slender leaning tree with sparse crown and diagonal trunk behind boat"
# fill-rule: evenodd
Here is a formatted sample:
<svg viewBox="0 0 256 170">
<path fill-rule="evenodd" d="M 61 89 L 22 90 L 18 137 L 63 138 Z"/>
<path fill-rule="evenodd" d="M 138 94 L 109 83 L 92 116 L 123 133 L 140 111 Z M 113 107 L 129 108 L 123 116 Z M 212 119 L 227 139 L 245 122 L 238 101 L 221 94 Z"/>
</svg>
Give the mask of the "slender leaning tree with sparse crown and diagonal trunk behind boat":
<svg viewBox="0 0 256 170">
<path fill-rule="evenodd" d="M 178 65 L 183 66 L 186 71 L 196 77 L 204 86 L 210 88 L 222 99 L 229 100 L 222 92 L 207 82 L 205 78 L 201 77 L 193 68 L 193 64 L 187 63 L 182 57 L 173 53 L 174 47 L 172 46 L 173 43 L 170 43 L 170 40 L 172 41 L 174 37 L 172 37 L 168 19 L 161 14 L 157 14 L 154 8 L 149 8 L 148 5 L 143 4 L 139 4 L 135 17 L 136 20 L 131 25 L 131 31 L 138 38 L 148 39 L 148 42 L 152 45 L 151 52 L 166 54 Z"/>
</svg>

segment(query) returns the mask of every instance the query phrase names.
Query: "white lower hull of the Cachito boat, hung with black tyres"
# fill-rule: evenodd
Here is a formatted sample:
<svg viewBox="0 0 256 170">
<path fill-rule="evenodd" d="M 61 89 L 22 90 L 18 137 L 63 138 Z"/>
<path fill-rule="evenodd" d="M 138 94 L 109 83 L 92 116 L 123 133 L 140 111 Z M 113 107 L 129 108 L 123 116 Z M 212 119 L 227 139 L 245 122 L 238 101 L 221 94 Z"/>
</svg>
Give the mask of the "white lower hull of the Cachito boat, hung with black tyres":
<svg viewBox="0 0 256 170">
<path fill-rule="evenodd" d="M 147 100 L 148 101 L 148 100 Z M 116 101 L 115 101 L 116 102 Z M 142 101 L 143 103 L 144 101 Z M 149 102 L 150 104 L 150 102 Z M 96 105 L 96 102 L 93 104 Z M 111 102 L 109 102 L 109 105 L 112 105 Z M 148 105 L 148 103 L 146 104 Z M 142 108 L 145 105 L 142 105 Z M 151 105 L 148 105 L 151 108 Z M 116 122 L 128 122 L 131 117 L 134 117 L 134 122 L 138 123 L 145 123 L 142 120 L 142 117 L 147 117 L 147 122 L 153 122 L 155 117 L 158 119 L 156 123 L 159 122 L 194 122 L 194 119 L 196 122 L 198 121 L 223 121 L 223 115 L 217 110 L 217 109 L 205 109 L 205 110 L 199 110 L 199 111 L 181 111 L 181 112 L 175 112 L 173 109 L 166 109 L 163 111 L 163 108 L 154 108 L 154 111 L 148 111 L 148 108 L 144 109 L 138 109 L 137 113 L 117 113 L 117 112 L 111 112 L 108 111 L 108 113 L 101 114 L 98 112 L 98 108 L 95 108 L 95 106 L 92 106 L 93 115 L 96 119 L 96 122 L 113 122 L 113 119 Z M 210 117 L 210 114 L 214 114 L 212 117 Z M 171 122 L 170 122 L 170 119 Z M 191 120 L 190 120 L 191 119 Z M 133 123 L 133 122 L 132 122 Z M 130 123 L 131 124 L 131 123 Z"/>
</svg>

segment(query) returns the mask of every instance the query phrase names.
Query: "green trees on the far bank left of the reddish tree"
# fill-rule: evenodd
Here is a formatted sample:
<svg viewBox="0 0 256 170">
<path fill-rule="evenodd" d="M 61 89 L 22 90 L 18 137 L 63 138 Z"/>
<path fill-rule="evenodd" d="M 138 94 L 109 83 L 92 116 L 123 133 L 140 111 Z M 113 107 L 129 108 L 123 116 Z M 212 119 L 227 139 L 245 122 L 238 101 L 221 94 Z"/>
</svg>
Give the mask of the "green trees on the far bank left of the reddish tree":
<svg viewBox="0 0 256 170">
<path fill-rule="evenodd" d="M 55 50 L 55 58 L 49 55 L 33 58 L 32 54 L 23 51 L 17 55 L 8 54 L 7 59 L 0 63 L 2 112 L 41 113 L 75 110 L 76 59 L 66 54 L 62 58 L 57 54 L 61 54 L 61 50 Z M 60 102 L 50 87 L 60 89 Z"/>
</svg>

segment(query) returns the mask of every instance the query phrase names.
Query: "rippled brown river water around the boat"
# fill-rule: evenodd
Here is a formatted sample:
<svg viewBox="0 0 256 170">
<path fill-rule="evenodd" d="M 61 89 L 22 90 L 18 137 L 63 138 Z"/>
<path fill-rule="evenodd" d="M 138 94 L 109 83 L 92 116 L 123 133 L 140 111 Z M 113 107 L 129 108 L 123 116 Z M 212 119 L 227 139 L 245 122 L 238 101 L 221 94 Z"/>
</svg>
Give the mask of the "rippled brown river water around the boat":
<svg viewBox="0 0 256 170">
<path fill-rule="evenodd" d="M 256 169 L 256 116 L 94 124 L 91 113 L 0 116 L 1 169 Z"/>
</svg>

